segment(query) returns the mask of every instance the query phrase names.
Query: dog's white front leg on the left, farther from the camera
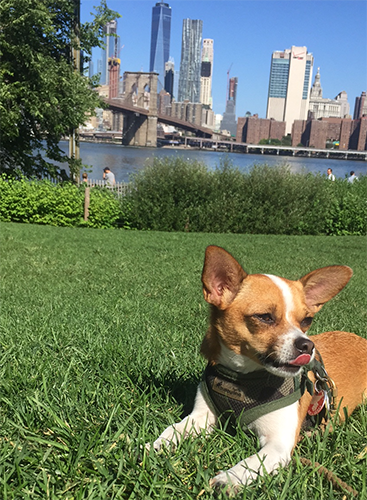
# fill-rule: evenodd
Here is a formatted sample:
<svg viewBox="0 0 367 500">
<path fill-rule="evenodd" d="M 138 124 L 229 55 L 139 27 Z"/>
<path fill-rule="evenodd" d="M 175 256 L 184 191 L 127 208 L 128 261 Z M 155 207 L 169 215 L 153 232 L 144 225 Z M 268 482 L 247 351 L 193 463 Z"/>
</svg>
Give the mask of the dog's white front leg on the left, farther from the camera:
<svg viewBox="0 0 367 500">
<path fill-rule="evenodd" d="M 181 422 L 170 425 L 165 431 L 154 441 L 153 447 L 155 450 L 160 450 L 163 445 L 176 446 L 182 438 L 189 435 L 198 435 L 201 430 L 205 430 L 209 434 L 215 424 L 217 417 L 207 405 L 202 393 L 201 384 L 198 387 L 194 409 Z"/>
</svg>

